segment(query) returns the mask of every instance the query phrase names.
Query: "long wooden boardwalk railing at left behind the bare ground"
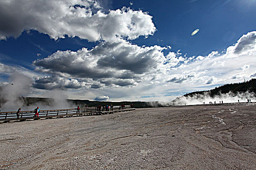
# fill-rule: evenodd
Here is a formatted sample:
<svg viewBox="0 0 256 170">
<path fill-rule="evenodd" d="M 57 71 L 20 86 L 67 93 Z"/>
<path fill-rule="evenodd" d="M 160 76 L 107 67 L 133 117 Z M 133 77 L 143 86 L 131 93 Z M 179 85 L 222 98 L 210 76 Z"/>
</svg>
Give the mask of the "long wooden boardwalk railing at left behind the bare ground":
<svg viewBox="0 0 256 170">
<path fill-rule="evenodd" d="M 97 107 L 84 107 L 80 108 L 79 112 L 77 108 L 72 109 L 57 109 L 57 110 L 40 110 L 39 118 L 53 118 L 53 117 L 64 117 L 64 116 L 89 116 L 89 115 L 102 115 L 102 114 L 110 114 L 115 112 L 123 112 L 123 111 L 132 111 L 135 110 L 131 108 L 130 105 L 125 105 L 124 108 L 121 106 L 113 106 L 113 108 L 109 107 L 106 109 L 105 106 L 101 106 L 101 109 Z M 38 119 L 34 117 L 34 111 L 21 111 L 19 119 Z M 10 120 L 19 120 L 17 119 L 16 112 L 0 112 L 0 121 L 10 121 Z"/>
</svg>

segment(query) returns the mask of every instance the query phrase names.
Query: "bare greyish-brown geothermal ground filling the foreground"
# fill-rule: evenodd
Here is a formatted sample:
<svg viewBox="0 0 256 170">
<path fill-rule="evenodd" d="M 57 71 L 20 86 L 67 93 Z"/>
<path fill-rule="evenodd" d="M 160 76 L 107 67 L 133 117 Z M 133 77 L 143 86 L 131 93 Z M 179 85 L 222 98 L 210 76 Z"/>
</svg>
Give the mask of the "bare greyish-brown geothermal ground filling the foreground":
<svg viewBox="0 0 256 170">
<path fill-rule="evenodd" d="M 255 105 L 137 109 L 0 129 L 3 170 L 256 169 Z"/>
</svg>

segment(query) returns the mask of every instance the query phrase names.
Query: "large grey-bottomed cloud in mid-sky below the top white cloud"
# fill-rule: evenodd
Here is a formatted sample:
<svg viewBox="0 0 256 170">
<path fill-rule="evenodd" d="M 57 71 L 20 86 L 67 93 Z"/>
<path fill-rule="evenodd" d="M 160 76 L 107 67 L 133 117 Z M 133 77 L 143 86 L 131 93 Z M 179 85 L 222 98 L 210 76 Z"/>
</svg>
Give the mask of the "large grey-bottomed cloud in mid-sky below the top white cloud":
<svg viewBox="0 0 256 170">
<path fill-rule="evenodd" d="M 162 56 L 158 47 L 141 48 L 123 40 L 119 43 L 104 42 L 92 50 L 57 51 L 33 64 L 37 71 L 66 79 L 74 78 L 81 82 L 83 78 L 92 79 L 91 88 L 134 86 L 149 72 L 159 71 Z M 45 88 L 43 83 L 49 84 L 37 80 L 35 87 Z M 67 88 L 68 85 L 61 87 Z M 74 88 L 80 86 L 75 85 Z"/>
</svg>

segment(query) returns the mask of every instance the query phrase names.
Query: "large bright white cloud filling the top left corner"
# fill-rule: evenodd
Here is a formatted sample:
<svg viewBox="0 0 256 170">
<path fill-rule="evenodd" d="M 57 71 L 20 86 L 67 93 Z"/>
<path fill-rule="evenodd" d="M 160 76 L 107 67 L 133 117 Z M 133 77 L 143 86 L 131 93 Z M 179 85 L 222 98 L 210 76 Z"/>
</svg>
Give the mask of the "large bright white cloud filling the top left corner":
<svg viewBox="0 0 256 170">
<path fill-rule="evenodd" d="M 116 41 L 152 35 L 152 17 L 129 8 L 101 11 L 95 0 L 1 0 L 0 39 L 37 30 L 54 39 L 78 36 L 89 41 Z"/>
</svg>

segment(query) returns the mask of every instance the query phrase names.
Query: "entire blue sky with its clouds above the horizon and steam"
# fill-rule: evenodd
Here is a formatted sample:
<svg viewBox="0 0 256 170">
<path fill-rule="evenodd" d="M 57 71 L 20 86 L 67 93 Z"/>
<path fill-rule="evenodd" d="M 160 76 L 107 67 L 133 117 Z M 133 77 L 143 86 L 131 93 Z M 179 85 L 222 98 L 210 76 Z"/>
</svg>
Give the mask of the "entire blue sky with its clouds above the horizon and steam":
<svg viewBox="0 0 256 170">
<path fill-rule="evenodd" d="M 256 0 L 28 1 L 0 2 L 0 84 L 27 76 L 22 95 L 171 101 L 256 77 Z"/>
</svg>

